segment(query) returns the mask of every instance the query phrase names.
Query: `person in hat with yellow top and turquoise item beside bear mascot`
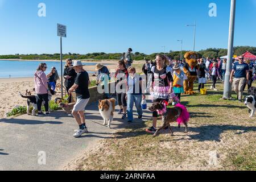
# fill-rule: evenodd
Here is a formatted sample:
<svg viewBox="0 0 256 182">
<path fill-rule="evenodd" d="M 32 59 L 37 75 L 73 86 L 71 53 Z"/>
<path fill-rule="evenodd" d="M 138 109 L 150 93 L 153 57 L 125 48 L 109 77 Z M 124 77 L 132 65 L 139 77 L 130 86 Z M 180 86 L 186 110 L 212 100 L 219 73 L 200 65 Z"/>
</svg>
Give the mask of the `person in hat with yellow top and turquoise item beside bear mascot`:
<svg viewBox="0 0 256 182">
<path fill-rule="evenodd" d="M 174 65 L 174 93 L 177 98 L 181 98 L 181 94 L 184 93 L 183 88 L 183 80 L 184 80 L 184 72 L 180 69 L 179 64 Z M 177 103 L 175 103 L 177 104 Z"/>
</svg>

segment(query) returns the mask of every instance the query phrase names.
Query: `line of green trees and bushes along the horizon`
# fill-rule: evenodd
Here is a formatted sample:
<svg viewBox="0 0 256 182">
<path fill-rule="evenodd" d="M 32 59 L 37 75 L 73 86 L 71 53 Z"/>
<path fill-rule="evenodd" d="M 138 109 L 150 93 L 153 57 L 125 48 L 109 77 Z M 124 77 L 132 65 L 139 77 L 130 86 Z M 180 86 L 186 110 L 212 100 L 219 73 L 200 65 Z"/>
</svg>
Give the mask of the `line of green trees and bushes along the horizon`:
<svg viewBox="0 0 256 182">
<path fill-rule="evenodd" d="M 256 55 L 256 47 L 250 46 L 237 46 L 234 47 L 234 55 L 242 55 L 246 51 L 249 51 Z M 188 51 L 182 51 L 182 55 Z M 228 54 L 228 49 L 222 48 L 208 48 L 205 50 L 198 51 L 199 57 L 222 57 Z M 155 56 L 158 54 L 165 54 L 172 59 L 179 60 L 180 59 L 180 51 L 170 51 L 167 53 L 158 52 L 152 53 L 151 55 L 146 55 L 140 52 L 132 53 L 133 60 L 154 60 Z M 63 59 L 75 59 L 75 60 L 108 60 L 108 59 L 121 59 L 123 53 L 105 53 L 105 52 L 95 52 L 95 53 L 87 53 L 85 55 L 81 55 L 79 53 L 67 53 L 63 55 Z M 182 57 L 183 58 L 183 57 Z M 43 53 L 41 55 L 38 54 L 30 54 L 30 55 L 19 55 L 18 53 L 15 55 L 0 55 L 0 59 L 20 59 L 20 60 L 60 60 L 60 53 L 47 54 Z"/>
</svg>

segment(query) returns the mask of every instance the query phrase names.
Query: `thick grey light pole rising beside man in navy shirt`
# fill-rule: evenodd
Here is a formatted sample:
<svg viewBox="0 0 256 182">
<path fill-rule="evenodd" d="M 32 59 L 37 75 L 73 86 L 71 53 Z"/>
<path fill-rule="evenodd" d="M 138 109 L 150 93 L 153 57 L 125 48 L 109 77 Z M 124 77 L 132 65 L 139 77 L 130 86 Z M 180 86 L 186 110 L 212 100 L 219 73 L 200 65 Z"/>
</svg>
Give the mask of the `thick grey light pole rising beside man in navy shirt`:
<svg viewBox="0 0 256 182">
<path fill-rule="evenodd" d="M 226 65 L 225 83 L 224 83 L 224 99 L 232 98 L 232 83 L 229 82 L 232 71 L 233 46 L 234 46 L 234 25 L 236 19 L 236 0 L 231 0 L 230 20 L 229 20 L 229 43 L 228 43 L 228 61 Z"/>
</svg>

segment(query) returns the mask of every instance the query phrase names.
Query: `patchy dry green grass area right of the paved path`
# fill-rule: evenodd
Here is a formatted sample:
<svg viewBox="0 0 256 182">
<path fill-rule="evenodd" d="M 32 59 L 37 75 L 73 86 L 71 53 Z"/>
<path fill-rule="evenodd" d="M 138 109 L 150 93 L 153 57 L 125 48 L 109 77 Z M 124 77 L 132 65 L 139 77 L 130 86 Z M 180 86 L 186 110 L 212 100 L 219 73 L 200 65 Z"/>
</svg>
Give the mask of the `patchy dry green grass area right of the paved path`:
<svg viewBox="0 0 256 182">
<path fill-rule="evenodd" d="M 118 130 L 112 139 L 105 139 L 100 148 L 83 156 L 77 169 L 175 170 L 181 166 L 179 169 L 185 170 L 255 170 L 255 122 L 249 118 L 246 106 L 236 100 L 222 100 L 221 82 L 217 84 L 221 91 L 209 90 L 210 84 L 205 88 L 208 89 L 206 96 L 181 97 L 181 104 L 191 113 L 188 134 L 173 123 L 175 137 L 165 131 L 152 138 L 145 133 L 152 121 L 137 122 Z M 236 98 L 234 92 L 232 97 Z M 161 124 L 158 121 L 158 127 Z M 237 130 L 245 133 L 236 134 Z M 247 146 L 245 140 L 254 145 Z M 226 157 L 219 159 L 220 166 L 209 167 L 209 151 L 215 150 Z"/>
</svg>

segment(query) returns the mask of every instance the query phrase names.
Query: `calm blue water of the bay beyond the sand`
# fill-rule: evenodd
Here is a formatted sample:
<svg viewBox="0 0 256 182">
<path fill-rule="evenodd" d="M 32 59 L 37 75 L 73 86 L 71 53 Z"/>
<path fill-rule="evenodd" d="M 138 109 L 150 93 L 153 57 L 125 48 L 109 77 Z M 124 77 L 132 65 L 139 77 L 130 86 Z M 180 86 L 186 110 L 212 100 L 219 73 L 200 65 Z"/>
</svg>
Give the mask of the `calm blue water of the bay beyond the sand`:
<svg viewBox="0 0 256 182">
<path fill-rule="evenodd" d="M 42 61 L 5 61 L 0 60 L 0 78 L 33 77 L 38 65 Z M 56 67 L 60 75 L 60 62 L 46 62 L 46 73 L 51 71 L 51 67 Z M 85 65 L 96 65 L 97 63 L 84 63 Z M 63 62 L 63 66 L 65 61 Z M 94 72 L 88 72 L 94 73 Z"/>
</svg>

